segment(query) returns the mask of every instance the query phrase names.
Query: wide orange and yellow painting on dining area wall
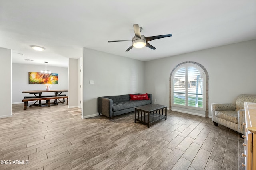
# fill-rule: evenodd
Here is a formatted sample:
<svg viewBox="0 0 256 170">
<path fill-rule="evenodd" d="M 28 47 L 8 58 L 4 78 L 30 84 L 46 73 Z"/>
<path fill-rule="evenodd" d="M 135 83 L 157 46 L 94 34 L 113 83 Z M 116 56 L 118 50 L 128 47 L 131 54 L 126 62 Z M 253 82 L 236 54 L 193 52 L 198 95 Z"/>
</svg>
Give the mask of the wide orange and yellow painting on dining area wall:
<svg viewBox="0 0 256 170">
<path fill-rule="evenodd" d="M 40 72 L 28 72 L 28 84 L 58 84 L 58 74 L 45 74 Z"/>
</svg>

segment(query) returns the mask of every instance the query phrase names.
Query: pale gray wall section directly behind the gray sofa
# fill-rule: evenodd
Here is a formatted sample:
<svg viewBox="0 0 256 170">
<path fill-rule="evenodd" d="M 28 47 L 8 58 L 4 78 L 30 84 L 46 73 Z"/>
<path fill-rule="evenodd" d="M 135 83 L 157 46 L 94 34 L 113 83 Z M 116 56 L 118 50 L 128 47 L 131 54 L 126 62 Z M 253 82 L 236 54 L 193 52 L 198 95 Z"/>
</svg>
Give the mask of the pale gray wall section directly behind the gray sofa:
<svg viewBox="0 0 256 170">
<path fill-rule="evenodd" d="M 98 97 L 146 92 L 143 61 L 84 48 L 83 69 L 83 118 L 98 115 Z"/>
</svg>

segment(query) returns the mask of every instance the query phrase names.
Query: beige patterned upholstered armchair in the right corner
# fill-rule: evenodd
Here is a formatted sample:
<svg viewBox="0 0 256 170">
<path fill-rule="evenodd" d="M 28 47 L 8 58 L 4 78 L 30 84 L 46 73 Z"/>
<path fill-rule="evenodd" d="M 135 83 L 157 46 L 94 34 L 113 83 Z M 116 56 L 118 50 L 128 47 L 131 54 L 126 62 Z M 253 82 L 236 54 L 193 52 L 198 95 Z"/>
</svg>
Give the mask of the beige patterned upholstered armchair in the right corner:
<svg viewBox="0 0 256 170">
<path fill-rule="evenodd" d="M 256 95 L 242 94 L 236 104 L 212 103 L 212 121 L 215 126 L 220 123 L 240 134 L 244 134 L 244 102 L 256 103 Z"/>
</svg>

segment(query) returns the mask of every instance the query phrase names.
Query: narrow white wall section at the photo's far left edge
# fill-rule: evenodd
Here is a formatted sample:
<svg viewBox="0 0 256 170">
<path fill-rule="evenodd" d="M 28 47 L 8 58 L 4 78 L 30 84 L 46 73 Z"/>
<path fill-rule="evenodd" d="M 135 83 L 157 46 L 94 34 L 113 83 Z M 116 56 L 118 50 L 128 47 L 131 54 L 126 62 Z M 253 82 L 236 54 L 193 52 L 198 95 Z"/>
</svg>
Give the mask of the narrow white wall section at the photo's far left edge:
<svg viewBox="0 0 256 170">
<path fill-rule="evenodd" d="M 0 118 L 12 117 L 12 51 L 0 47 Z"/>
</svg>

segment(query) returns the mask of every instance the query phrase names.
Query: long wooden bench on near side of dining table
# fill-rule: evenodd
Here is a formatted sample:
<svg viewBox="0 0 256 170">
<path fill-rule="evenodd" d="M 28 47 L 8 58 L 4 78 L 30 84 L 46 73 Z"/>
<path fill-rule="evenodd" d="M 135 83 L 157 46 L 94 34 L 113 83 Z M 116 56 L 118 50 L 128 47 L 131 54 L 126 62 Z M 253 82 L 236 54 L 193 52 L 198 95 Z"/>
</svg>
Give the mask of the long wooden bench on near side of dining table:
<svg viewBox="0 0 256 170">
<path fill-rule="evenodd" d="M 45 104 L 48 104 L 48 107 L 51 107 L 51 99 L 59 100 L 59 99 L 65 99 L 65 98 L 67 99 L 67 104 L 68 104 L 68 96 L 52 96 L 52 97 L 42 97 L 42 98 L 24 98 L 24 99 L 22 99 L 22 102 L 24 102 L 23 110 L 27 109 L 28 101 L 36 101 L 37 102 L 37 101 L 41 101 L 41 100 L 47 100 L 47 103 L 45 103 Z M 43 105 L 43 104 L 35 104 L 35 103 L 30 105 L 29 107 L 31 107 L 31 106 L 41 107 L 41 105 Z M 61 102 L 61 103 L 64 103 L 64 102 Z M 54 102 L 52 104 L 56 104 L 56 102 Z M 58 104 L 58 102 L 57 102 L 57 104 Z"/>
</svg>

